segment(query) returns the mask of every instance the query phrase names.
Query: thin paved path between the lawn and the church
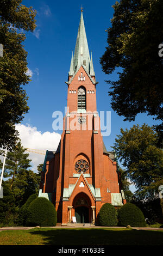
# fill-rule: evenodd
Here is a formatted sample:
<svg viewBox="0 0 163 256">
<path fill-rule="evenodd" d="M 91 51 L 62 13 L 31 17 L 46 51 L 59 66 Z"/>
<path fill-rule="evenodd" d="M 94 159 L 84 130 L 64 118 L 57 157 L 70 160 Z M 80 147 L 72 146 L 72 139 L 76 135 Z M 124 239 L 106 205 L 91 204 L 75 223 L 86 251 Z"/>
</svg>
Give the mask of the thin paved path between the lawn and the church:
<svg viewBox="0 0 163 256">
<path fill-rule="evenodd" d="M 28 229 L 33 229 L 33 228 L 36 228 L 36 227 L 4 227 L 4 228 L 0 228 L 0 231 L 3 231 L 3 230 L 28 230 Z M 72 226 L 56 226 L 56 227 L 42 227 L 42 228 L 125 228 L 125 227 L 101 227 L 101 226 L 92 226 L 92 227 L 87 227 L 87 226 L 81 226 L 81 225 L 76 225 L 74 227 Z M 162 230 L 163 231 L 163 228 L 137 228 L 137 227 L 134 227 L 132 229 L 136 229 L 136 230 Z"/>
</svg>

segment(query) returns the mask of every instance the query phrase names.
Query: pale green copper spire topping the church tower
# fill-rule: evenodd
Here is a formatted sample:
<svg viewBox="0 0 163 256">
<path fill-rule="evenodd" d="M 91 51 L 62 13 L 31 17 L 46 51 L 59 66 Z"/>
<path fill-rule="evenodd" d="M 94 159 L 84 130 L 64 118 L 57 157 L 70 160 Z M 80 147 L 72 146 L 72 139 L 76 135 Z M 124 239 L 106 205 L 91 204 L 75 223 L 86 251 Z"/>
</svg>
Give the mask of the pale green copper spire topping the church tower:
<svg viewBox="0 0 163 256">
<path fill-rule="evenodd" d="M 84 66 L 84 68 L 87 70 L 87 72 L 89 72 L 89 74 L 91 72 L 93 76 L 95 76 L 94 70 L 92 71 L 93 63 L 91 63 L 89 47 L 86 39 L 85 26 L 83 20 L 83 9 L 80 17 L 76 47 L 74 50 L 74 57 L 72 59 L 69 76 L 72 76 L 80 68 L 81 65 Z"/>
</svg>

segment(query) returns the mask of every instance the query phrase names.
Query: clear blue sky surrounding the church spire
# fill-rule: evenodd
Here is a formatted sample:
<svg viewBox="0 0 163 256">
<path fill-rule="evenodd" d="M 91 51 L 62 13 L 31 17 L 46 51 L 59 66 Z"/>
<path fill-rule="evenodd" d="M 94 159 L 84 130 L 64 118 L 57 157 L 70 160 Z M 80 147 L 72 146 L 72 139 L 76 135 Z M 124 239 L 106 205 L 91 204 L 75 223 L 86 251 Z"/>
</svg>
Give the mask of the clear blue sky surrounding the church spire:
<svg viewBox="0 0 163 256">
<path fill-rule="evenodd" d="M 126 129 L 134 124 L 155 124 L 152 117 L 146 114 L 137 115 L 135 121 L 123 121 L 111 109 L 108 96 L 109 85 L 105 80 L 116 80 L 117 73 L 105 75 L 102 72 L 99 58 L 105 52 L 107 29 L 113 15 L 110 1 L 40 1 L 24 0 L 22 4 L 37 10 L 34 33 L 26 33 L 24 48 L 28 52 L 28 68 L 32 71 L 32 82 L 25 88 L 29 96 L 29 113 L 22 124 L 36 127 L 41 133 L 53 132 L 52 113 L 62 111 L 67 104 L 67 81 L 70 69 L 71 51 L 74 50 L 80 20 L 80 8 L 83 5 L 83 17 L 89 50 L 92 51 L 93 66 L 98 85 L 97 110 L 111 111 L 111 134 L 104 137 L 106 149 L 112 150 L 116 135 L 121 127 Z M 61 134 L 61 131 L 58 131 Z M 36 146 L 35 146 L 36 147 Z"/>
</svg>

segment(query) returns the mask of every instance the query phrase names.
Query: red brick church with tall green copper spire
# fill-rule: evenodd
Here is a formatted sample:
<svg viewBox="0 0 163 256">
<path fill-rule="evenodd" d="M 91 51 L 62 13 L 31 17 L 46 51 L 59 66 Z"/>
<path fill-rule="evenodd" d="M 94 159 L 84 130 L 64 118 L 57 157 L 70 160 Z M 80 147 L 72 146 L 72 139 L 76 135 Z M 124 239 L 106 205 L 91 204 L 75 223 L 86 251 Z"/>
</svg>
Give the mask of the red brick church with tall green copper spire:
<svg viewBox="0 0 163 256">
<path fill-rule="evenodd" d="M 40 197 L 47 197 L 62 225 L 95 223 L 105 203 L 126 203 L 115 155 L 106 151 L 96 108 L 96 77 L 81 14 L 67 84 L 67 113 L 57 151 L 43 164 Z"/>
</svg>

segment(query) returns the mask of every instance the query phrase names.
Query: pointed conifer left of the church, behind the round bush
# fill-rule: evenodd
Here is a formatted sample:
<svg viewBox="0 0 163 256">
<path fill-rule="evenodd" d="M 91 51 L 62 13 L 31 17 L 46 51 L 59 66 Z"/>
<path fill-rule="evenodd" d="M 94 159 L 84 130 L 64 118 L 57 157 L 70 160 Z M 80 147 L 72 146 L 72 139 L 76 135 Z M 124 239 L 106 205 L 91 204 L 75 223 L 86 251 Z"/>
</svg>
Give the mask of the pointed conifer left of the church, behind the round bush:
<svg viewBox="0 0 163 256">
<path fill-rule="evenodd" d="M 0 226 L 24 225 L 28 206 L 39 194 L 40 173 L 29 169 L 31 160 L 28 157 L 21 141 L 7 154 L 2 183 L 4 197 L 0 200 Z"/>
</svg>

